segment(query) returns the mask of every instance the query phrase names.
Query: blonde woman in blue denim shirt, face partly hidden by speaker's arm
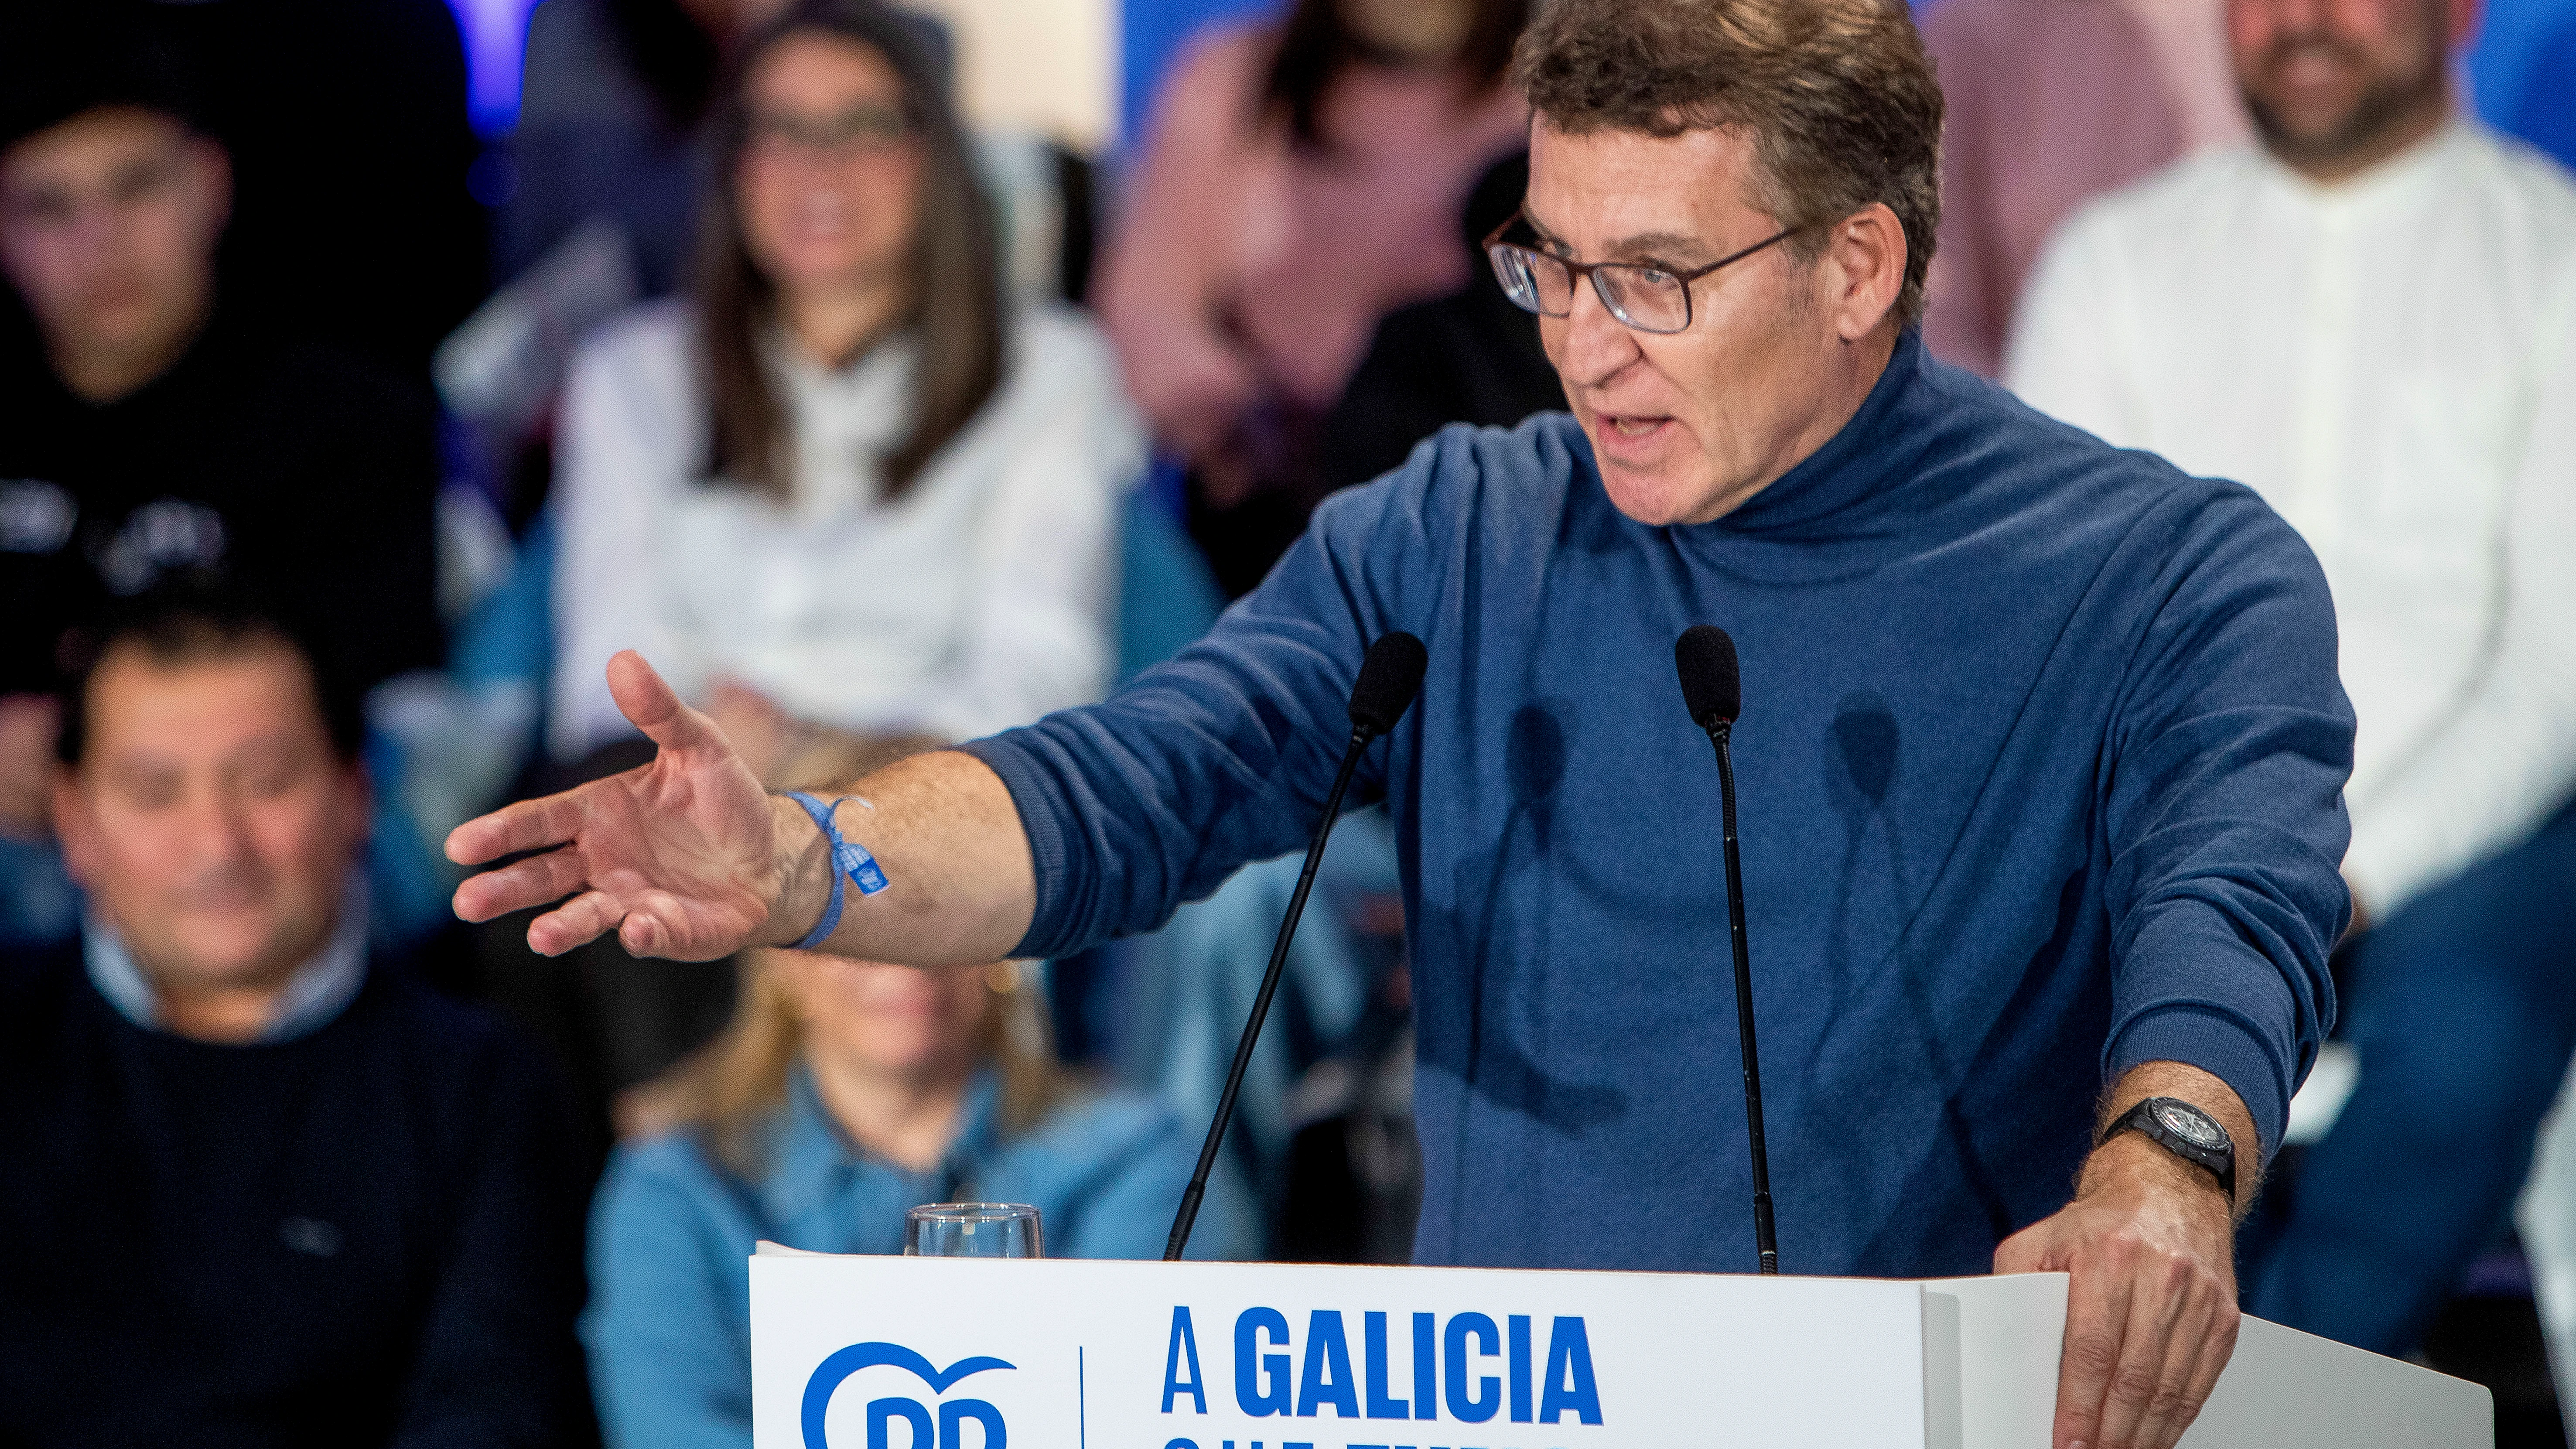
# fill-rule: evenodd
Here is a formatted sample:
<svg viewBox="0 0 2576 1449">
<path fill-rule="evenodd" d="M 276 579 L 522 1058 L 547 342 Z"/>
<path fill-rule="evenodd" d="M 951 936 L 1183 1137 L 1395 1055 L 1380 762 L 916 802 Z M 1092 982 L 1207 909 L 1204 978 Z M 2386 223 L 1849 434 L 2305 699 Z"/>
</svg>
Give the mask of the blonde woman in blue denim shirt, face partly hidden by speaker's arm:
<svg viewBox="0 0 2576 1449">
<path fill-rule="evenodd" d="M 1023 967 L 755 951 L 721 1039 L 654 1091 L 592 1207 L 590 1374 L 618 1449 L 752 1441 L 747 1258 L 762 1238 L 902 1253 L 925 1201 L 1038 1207 L 1051 1258 L 1154 1258 L 1198 1160 L 1170 1109 L 1046 1052 Z M 1193 1258 L 1247 1248 L 1211 1199 Z"/>
</svg>

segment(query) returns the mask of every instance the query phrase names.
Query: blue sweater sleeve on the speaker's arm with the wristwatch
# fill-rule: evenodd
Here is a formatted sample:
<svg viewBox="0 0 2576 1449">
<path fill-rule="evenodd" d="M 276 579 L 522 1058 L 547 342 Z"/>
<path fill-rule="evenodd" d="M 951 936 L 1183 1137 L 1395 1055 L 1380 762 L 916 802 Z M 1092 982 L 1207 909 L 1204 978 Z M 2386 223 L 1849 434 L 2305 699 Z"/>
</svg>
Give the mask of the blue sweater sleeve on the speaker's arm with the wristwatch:
<svg viewBox="0 0 2576 1449">
<path fill-rule="evenodd" d="M 2208 1070 L 2269 1155 L 2334 1024 L 2326 954 L 2349 918 L 2334 603 L 2316 557 L 2251 492 L 2195 492 L 2141 531 L 2172 547 L 2102 763 L 2105 1080 L 2141 1062 Z"/>
</svg>

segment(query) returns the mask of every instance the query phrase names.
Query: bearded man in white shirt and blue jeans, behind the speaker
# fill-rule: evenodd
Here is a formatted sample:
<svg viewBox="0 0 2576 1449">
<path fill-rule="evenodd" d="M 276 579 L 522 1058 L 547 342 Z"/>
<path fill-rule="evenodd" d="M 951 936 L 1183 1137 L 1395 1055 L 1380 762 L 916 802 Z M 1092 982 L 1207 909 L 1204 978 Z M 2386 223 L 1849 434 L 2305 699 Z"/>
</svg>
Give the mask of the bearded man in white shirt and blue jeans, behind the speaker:
<svg viewBox="0 0 2576 1449">
<path fill-rule="evenodd" d="M 2360 1083 L 2246 1281 L 2383 1354 L 2501 1230 L 2576 1044 L 2576 186 L 2458 113 L 2473 23 L 2233 0 L 2262 144 L 2084 209 L 2009 353 L 2032 405 L 2259 490 L 2334 585 Z"/>
</svg>

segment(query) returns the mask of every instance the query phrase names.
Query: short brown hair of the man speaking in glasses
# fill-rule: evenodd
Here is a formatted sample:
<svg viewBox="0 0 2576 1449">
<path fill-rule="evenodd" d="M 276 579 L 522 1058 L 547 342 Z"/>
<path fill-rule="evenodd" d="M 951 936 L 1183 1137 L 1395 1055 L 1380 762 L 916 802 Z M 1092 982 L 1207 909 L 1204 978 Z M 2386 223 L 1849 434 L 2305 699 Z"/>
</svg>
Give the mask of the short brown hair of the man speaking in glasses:
<svg viewBox="0 0 2576 1449">
<path fill-rule="evenodd" d="M 1520 36 L 1512 75 L 1551 126 L 1741 126 L 1783 227 L 1886 201 L 1906 229 L 1899 325 L 1924 309 L 1940 227 L 1940 85 L 1901 0 L 1556 0 Z M 1824 250 L 1819 232 L 1795 240 Z"/>
</svg>

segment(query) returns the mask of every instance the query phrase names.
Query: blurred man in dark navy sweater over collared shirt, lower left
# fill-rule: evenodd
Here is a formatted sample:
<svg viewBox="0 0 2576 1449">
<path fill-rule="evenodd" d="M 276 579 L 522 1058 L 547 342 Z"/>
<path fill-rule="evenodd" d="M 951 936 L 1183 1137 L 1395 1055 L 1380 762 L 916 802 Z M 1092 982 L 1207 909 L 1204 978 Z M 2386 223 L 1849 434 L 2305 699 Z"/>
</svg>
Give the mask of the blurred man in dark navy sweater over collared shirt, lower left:
<svg viewBox="0 0 2576 1449">
<path fill-rule="evenodd" d="M 88 920 L 0 969 L 0 1441 L 577 1439 L 567 1119 L 368 957 L 355 699 L 219 598 L 98 639 L 52 797 Z"/>
</svg>

